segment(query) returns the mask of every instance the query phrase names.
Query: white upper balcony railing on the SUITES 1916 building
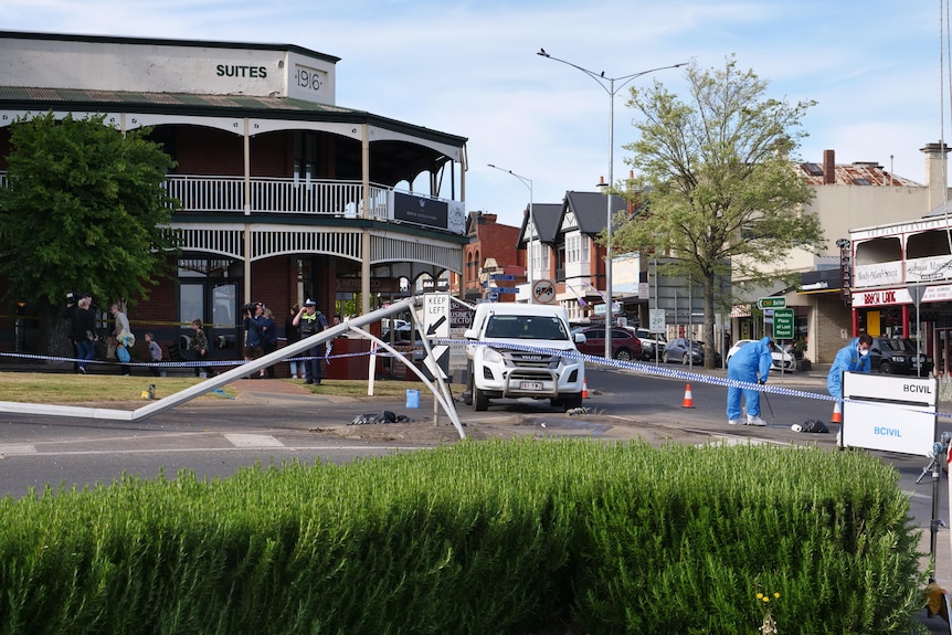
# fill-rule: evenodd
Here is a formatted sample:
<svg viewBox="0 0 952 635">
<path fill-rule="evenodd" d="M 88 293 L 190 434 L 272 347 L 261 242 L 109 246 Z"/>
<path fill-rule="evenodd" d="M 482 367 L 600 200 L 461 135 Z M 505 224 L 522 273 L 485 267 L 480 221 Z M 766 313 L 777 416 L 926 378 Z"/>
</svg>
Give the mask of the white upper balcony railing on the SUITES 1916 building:
<svg viewBox="0 0 952 635">
<path fill-rule="evenodd" d="M 363 188 L 360 181 L 252 178 L 247 211 L 255 214 L 362 215 Z M 241 177 L 195 177 L 176 174 L 166 188 L 182 203 L 183 212 L 244 212 L 245 181 Z M 370 218 L 387 220 L 390 188 L 370 186 Z"/>
</svg>

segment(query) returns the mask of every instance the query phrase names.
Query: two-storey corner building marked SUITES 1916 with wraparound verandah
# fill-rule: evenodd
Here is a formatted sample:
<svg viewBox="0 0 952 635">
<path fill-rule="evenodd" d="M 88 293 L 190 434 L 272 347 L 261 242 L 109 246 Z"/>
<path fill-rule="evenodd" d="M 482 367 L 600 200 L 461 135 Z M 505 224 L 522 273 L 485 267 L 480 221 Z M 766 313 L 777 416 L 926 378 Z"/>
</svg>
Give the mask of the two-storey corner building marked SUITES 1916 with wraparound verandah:
<svg viewBox="0 0 952 635">
<path fill-rule="evenodd" d="M 182 205 L 178 276 L 136 305 L 134 329 L 177 341 L 201 318 L 213 357 L 241 357 L 246 301 L 265 303 L 281 326 L 306 297 L 330 319 L 337 299 L 377 308 L 401 277 L 462 274 L 466 139 L 338 106 L 338 57 L 288 44 L 0 32 L 0 186 L 9 125 L 46 112 L 151 127 L 178 163 L 166 181 Z M 29 350 L 2 319 L 0 350 Z"/>
</svg>

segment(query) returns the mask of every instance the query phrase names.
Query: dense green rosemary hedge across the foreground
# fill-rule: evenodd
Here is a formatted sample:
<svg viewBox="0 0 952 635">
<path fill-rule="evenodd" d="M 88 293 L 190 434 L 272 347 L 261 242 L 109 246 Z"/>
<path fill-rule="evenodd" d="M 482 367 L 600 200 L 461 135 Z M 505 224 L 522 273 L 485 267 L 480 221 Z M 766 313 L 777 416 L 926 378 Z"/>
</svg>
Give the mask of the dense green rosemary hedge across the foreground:
<svg viewBox="0 0 952 635">
<path fill-rule="evenodd" d="M 519 440 L 126 476 L 0 500 L 0 634 L 909 633 L 918 538 L 861 452 Z"/>
</svg>

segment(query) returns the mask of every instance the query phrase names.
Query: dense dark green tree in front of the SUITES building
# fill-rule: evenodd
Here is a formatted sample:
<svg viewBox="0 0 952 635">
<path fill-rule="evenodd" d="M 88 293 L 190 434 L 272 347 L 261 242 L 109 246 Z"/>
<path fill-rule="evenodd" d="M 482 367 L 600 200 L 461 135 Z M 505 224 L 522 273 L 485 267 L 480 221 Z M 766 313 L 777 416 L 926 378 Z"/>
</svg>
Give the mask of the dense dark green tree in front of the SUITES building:
<svg viewBox="0 0 952 635">
<path fill-rule="evenodd" d="M 168 274 L 174 201 L 162 187 L 174 166 L 149 129 L 120 133 L 105 116 L 52 113 L 10 130 L 7 188 L 0 189 L 0 274 L 9 299 L 35 305 L 41 350 L 70 350 L 65 295 L 112 301 L 147 297 Z"/>
</svg>

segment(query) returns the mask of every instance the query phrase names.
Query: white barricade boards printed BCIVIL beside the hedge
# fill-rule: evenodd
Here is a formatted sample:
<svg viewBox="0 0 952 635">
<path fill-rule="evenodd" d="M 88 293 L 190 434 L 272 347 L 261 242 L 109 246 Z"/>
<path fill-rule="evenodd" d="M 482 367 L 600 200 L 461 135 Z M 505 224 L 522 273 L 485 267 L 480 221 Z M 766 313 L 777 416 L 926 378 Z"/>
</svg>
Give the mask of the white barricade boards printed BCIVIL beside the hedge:
<svg viewBox="0 0 952 635">
<path fill-rule="evenodd" d="M 843 373 L 844 447 L 925 456 L 935 442 L 934 378 Z"/>
</svg>

